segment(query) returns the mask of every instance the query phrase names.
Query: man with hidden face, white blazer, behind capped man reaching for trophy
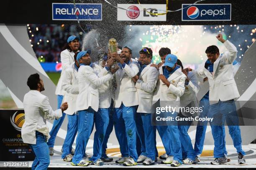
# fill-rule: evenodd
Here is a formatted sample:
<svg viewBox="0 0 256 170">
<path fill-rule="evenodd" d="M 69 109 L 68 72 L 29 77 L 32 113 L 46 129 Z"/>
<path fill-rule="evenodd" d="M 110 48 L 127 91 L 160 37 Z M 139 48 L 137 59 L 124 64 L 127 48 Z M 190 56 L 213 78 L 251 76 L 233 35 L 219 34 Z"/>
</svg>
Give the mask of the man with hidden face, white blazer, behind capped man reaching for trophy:
<svg viewBox="0 0 256 170">
<path fill-rule="evenodd" d="M 67 135 L 62 146 L 63 153 L 61 158 L 67 162 L 70 162 L 73 158 L 72 145 L 77 134 L 78 124 L 78 115 L 75 114 L 77 95 L 79 94 L 77 78 L 79 63 L 77 62 L 77 53 L 74 55 L 74 61 L 75 62 L 68 66 L 64 71 L 62 78 L 62 86 L 64 91 L 66 91 L 63 101 L 68 102 L 69 108 L 65 111 L 68 118 L 68 128 Z"/>
</svg>

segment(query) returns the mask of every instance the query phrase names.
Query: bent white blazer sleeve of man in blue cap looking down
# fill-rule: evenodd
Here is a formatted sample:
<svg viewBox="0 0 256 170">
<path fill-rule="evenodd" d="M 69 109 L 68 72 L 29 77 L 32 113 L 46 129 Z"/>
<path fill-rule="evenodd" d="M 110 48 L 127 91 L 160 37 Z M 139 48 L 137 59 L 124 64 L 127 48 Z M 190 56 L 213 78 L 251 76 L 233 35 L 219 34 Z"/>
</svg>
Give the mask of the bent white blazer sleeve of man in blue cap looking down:
<svg viewBox="0 0 256 170">
<path fill-rule="evenodd" d="M 186 76 L 184 74 L 182 74 L 182 77 L 179 79 L 179 82 L 177 83 L 177 86 L 174 86 L 172 83 L 170 84 L 170 86 L 167 89 L 167 93 L 171 93 L 174 94 L 178 97 L 182 96 L 184 94 L 185 91 L 185 80 L 186 80 Z"/>
</svg>

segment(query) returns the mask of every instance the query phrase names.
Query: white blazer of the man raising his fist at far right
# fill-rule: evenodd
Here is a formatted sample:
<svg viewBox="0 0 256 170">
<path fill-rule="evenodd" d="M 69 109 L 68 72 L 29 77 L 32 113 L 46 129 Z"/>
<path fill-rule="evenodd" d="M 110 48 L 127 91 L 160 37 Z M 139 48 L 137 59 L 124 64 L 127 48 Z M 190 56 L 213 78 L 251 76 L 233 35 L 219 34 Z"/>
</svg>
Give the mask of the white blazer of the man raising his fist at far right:
<svg viewBox="0 0 256 170">
<path fill-rule="evenodd" d="M 219 100 L 227 101 L 238 98 L 239 92 L 234 80 L 233 62 L 236 59 L 236 47 L 225 41 L 224 46 L 228 49 L 221 54 L 213 63 L 213 75 L 205 68 L 193 70 L 197 76 L 207 77 L 209 81 L 209 100 L 210 104 L 218 103 Z"/>
</svg>

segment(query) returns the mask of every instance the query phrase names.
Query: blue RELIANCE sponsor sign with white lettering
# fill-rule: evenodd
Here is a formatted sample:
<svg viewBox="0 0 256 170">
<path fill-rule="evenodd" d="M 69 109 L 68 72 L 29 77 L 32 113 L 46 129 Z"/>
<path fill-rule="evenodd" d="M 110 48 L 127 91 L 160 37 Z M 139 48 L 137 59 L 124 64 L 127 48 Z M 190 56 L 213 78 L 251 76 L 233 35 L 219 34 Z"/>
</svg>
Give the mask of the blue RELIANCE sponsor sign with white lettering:
<svg viewBox="0 0 256 170">
<path fill-rule="evenodd" d="M 52 20 L 102 20 L 102 4 L 52 3 Z"/>
</svg>

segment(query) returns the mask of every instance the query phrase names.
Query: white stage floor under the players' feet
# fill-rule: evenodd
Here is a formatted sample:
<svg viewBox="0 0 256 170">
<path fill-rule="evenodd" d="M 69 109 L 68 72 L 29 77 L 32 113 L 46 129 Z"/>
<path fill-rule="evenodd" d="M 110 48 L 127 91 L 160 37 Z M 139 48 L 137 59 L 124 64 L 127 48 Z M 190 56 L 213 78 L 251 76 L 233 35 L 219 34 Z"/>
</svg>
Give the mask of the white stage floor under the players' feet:
<svg viewBox="0 0 256 170">
<path fill-rule="evenodd" d="M 227 162 L 222 165 L 210 165 L 210 162 L 214 160 L 212 154 L 213 154 L 213 146 L 212 145 L 205 145 L 204 147 L 204 152 L 202 153 L 201 156 L 201 161 L 198 164 L 193 164 L 193 165 L 181 165 L 177 168 L 181 169 L 187 169 L 187 168 L 193 168 L 193 169 L 212 169 L 212 168 L 221 168 L 221 169 L 250 169 L 250 168 L 256 168 L 256 144 L 250 144 L 243 146 L 243 150 L 246 152 L 246 164 L 244 165 L 238 165 L 237 161 L 237 153 L 236 149 L 232 145 L 227 145 L 227 151 L 228 151 L 228 157 L 231 159 L 230 162 Z M 164 150 L 161 149 L 161 146 L 158 146 L 159 153 L 163 153 Z M 48 167 L 48 170 L 74 170 L 74 169 L 80 169 L 80 168 L 91 168 L 91 169 L 101 169 L 106 168 L 106 169 L 120 169 L 120 168 L 129 168 L 129 169 L 143 169 L 143 168 L 150 168 L 150 169 L 163 169 L 163 168 L 174 168 L 171 167 L 169 164 L 168 165 L 163 165 L 161 164 L 161 160 L 158 159 L 155 165 L 151 166 L 144 166 L 142 163 L 132 166 L 132 167 L 124 167 L 123 165 L 116 164 L 115 160 L 117 160 L 120 156 L 120 152 L 118 152 L 118 147 L 117 146 L 111 146 L 108 148 L 108 156 L 113 157 L 114 161 L 113 162 L 105 162 L 103 166 L 96 166 L 96 165 L 89 165 L 88 167 L 78 167 L 78 166 L 72 166 L 70 165 L 70 162 L 64 162 L 61 159 L 61 146 L 56 146 L 54 147 L 54 155 L 51 156 L 51 163 Z M 87 148 L 87 154 L 89 156 L 92 155 L 92 148 Z M 160 155 L 159 154 L 159 155 Z M 27 170 L 31 169 L 33 161 L 29 161 L 29 167 L 4 167 L 4 162 L 0 162 L 0 169 L 19 169 L 19 170 Z"/>
</svg>

